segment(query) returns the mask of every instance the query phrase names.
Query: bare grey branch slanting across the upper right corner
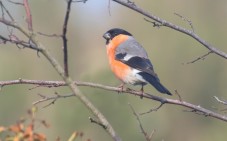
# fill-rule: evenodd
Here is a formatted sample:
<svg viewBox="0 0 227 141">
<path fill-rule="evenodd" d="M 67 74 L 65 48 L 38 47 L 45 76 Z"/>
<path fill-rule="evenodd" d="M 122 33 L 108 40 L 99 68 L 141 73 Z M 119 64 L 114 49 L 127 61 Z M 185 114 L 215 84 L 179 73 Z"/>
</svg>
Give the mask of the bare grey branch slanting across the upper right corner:
<svg viewBox="0 0 227 141">
<path fill-rule="evenodd" d="M 166 21 L 164 19 L 161 19 L 161 18 L 153 15 L 152 13 L 149 13 L 149 12 L 139 8 L 138 6 L 135 5 L 135 3 L 132 4 L 131 2 L 128 2 L 128 1 L 125 2 L 123 0 L 112 0 L 112 1 L 117 2 L 117 3 L 119 3 L 119 4 L 121 4 L 121 5 L 125 6 L 125 7 L 128 7 L 130 9 L 136 11 L 136 12 L 138 12 L 138 13 L 140 13 L 140 14 L 142 14 L 142 15 L 144 15 L 144 16 L 146 16 L 146 17 L 148 17 L 148 18 L 150 18 L 150 19 L 152 19 L 152 20 L 154 20 L 154 21 L 156 21 L 158 23 L 160 23 L 160 25 L 162 25 L 162 26 L 169 27 L 171 29 L 174 29 L 176 31 L 179 31 L 181 33 L 184 33 L 184 34 L 194 38 L 196 41 L 198 41 L 203 46 L 205 46 L 209 51 L 211 51 L 211 52 L 213 52 L 213 53 L 215 53 L 215 54 L 227 59 L 227 54 L 225 52 L 215 48 L 212 45 L 210 45 L 205 40 L 200 38 L 197 34 L 195 34 L 193 31 L 187 30 L 185 28 L 182 28 L 180 26 L 172 24 L 172 23 L 170 23 L 170 22 L 168 22 L 168 21 Z"/>
</svg>

